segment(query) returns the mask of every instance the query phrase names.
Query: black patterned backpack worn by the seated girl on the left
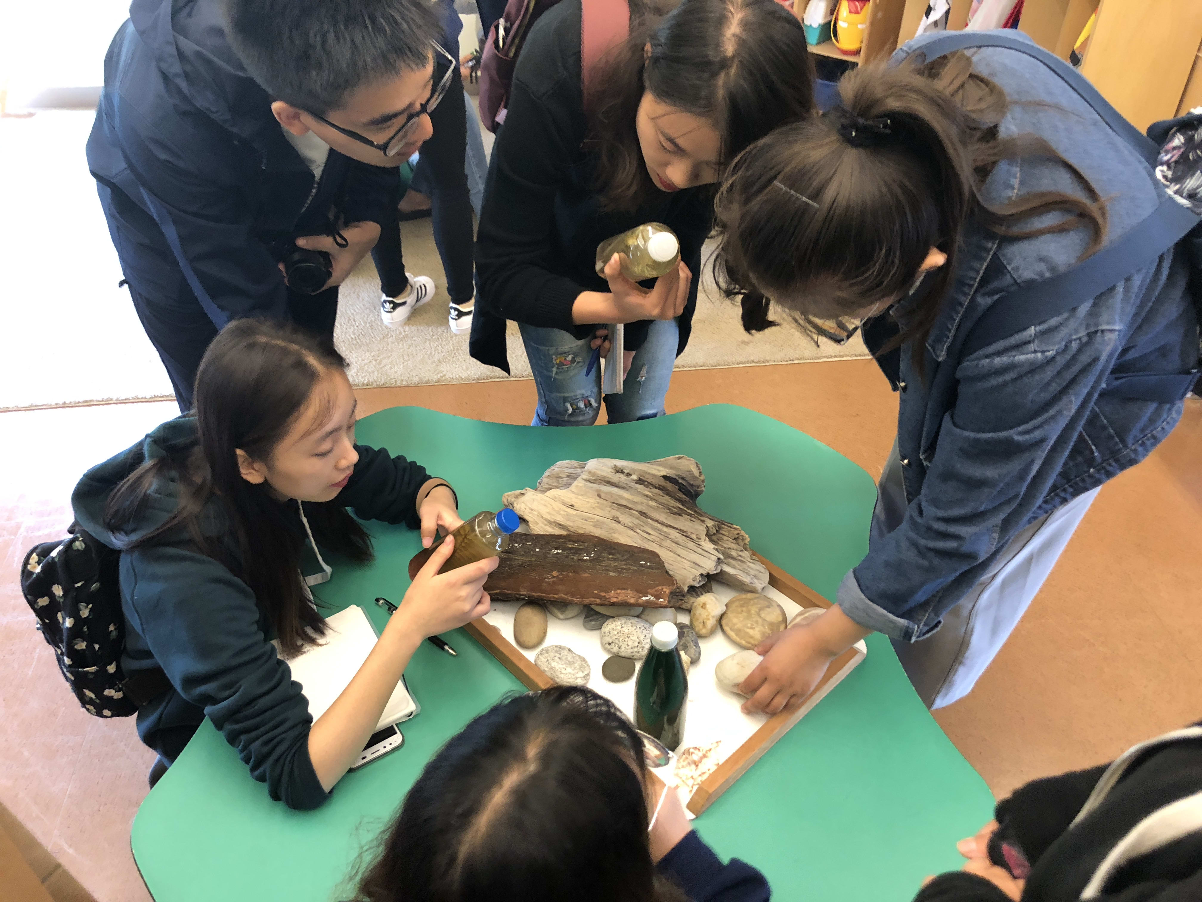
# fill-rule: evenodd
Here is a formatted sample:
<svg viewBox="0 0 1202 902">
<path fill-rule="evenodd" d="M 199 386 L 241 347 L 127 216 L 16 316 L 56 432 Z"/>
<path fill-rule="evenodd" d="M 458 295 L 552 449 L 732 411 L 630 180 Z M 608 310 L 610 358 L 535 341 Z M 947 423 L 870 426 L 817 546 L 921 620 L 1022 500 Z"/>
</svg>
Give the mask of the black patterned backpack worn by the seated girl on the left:
<svg viewBox="0 0 1202 902">
<path fill-rule="evenodd" d="M 30 548 L 20 564 L 20 591 L 84 711 L 96 717 L 136 714 L 171 682 L 159 667 L 125 677 L 120 552 L 78 523 L 70 533 L 63 541 Z"/>
</svg>

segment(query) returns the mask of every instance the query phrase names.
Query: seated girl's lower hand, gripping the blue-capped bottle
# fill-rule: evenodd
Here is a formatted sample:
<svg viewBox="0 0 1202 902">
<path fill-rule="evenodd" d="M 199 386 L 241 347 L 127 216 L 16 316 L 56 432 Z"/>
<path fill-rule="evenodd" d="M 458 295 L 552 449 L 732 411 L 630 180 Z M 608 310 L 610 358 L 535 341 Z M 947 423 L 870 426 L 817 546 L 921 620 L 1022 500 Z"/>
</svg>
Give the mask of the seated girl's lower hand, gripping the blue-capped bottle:
<svg viewBox="0 0 1202 902">
<path fill-rule="evenodd" d="M 452 551 L 454 539 L 447 536 L 413 577 L 399 610 L 388 618 L 386 631 L 400 630 L 426 639 L 458 629 L 488 613 L 490 599 L 484 592 L 484 581 L 500 558 L 484 558 L 440 574 L 439 569 Z"/>
</svg>

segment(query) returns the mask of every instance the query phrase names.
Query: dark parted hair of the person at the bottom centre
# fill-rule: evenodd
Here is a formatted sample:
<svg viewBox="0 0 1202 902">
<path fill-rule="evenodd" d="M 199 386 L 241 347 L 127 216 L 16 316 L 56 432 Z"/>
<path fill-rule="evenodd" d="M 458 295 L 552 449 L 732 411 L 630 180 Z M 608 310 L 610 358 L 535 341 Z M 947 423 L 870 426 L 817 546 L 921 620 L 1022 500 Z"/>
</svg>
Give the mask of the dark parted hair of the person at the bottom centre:
<svg viewBox="0 0 1202 902">
<path fill-rule="evenodd" d="M 358 902 L 685 902 L 648 847 L 642 742 L 612 702 L 502 701 L 430 759 Z"/>
</svg>

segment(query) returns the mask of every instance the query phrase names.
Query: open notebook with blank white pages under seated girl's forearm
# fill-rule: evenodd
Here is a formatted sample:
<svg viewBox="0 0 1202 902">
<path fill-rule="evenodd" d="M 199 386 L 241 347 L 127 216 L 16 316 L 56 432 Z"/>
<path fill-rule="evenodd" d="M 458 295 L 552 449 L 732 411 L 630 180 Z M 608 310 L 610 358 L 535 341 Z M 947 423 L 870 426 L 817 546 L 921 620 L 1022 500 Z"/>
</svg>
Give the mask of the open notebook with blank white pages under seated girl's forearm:
<svg viewBox="0 0 1202 902">
<path fill-rule="evenodd" d="M 309 700 L 309 713 L 314 720 L 325 714 L 343 694 L 343 689 L 350 686 L 376 643 L 371 621 L 358 605 L 327 617 L 326 624 L 328 628 L 319 640 L 320 645 L 305 646 L 294 658 L 285 659 L 292 670 L 292 678 L 300 683 L 300 689 Z M 272 645 L 279 652 L 279 642 Z M 407 720 L 418 711 L 403 678 L 383 706 L 375 729 L 382 730 Z"/>
</svg>

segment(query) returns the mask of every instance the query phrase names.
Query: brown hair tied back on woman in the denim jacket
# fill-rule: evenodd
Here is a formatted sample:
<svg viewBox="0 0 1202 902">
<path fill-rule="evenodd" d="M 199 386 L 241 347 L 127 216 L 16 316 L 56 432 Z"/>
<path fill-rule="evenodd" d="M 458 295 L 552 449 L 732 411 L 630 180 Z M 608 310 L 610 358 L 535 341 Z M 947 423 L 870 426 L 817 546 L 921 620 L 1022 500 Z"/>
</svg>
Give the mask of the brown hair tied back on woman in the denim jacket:
<svg viewBox="0 0 1202 902">
<path fill-rule="evenodd" d="M 970 221 L 1010 238 L 1087 229 L 1085 255 L 1102 245 L 1106 207 L 1089 179 L 1036 135 L 999 137 L 1006 94 L 966 54 L 863 65 L 839 82 L 839 97 L 826 114 L 774 131 L 731 166 L 718 197 L 715 255 L 728 296 L 767 295 L 803 321 L 853 315 L 903 297 L 936 247 L 947 262 L 928 273 L 930 287 L 889 345 L 912 342 L 921 372 Z M 1031 191 L 987 203 L 981 188 L 993 167 L 1019 158 L 1065 166 L 1088 200 Z M 1022 227 L 1049 212 L 1066 215 Z M 748 331 L 767 322 L 766 309 L 751 322 L 744 315 Z"/>
</svg>

